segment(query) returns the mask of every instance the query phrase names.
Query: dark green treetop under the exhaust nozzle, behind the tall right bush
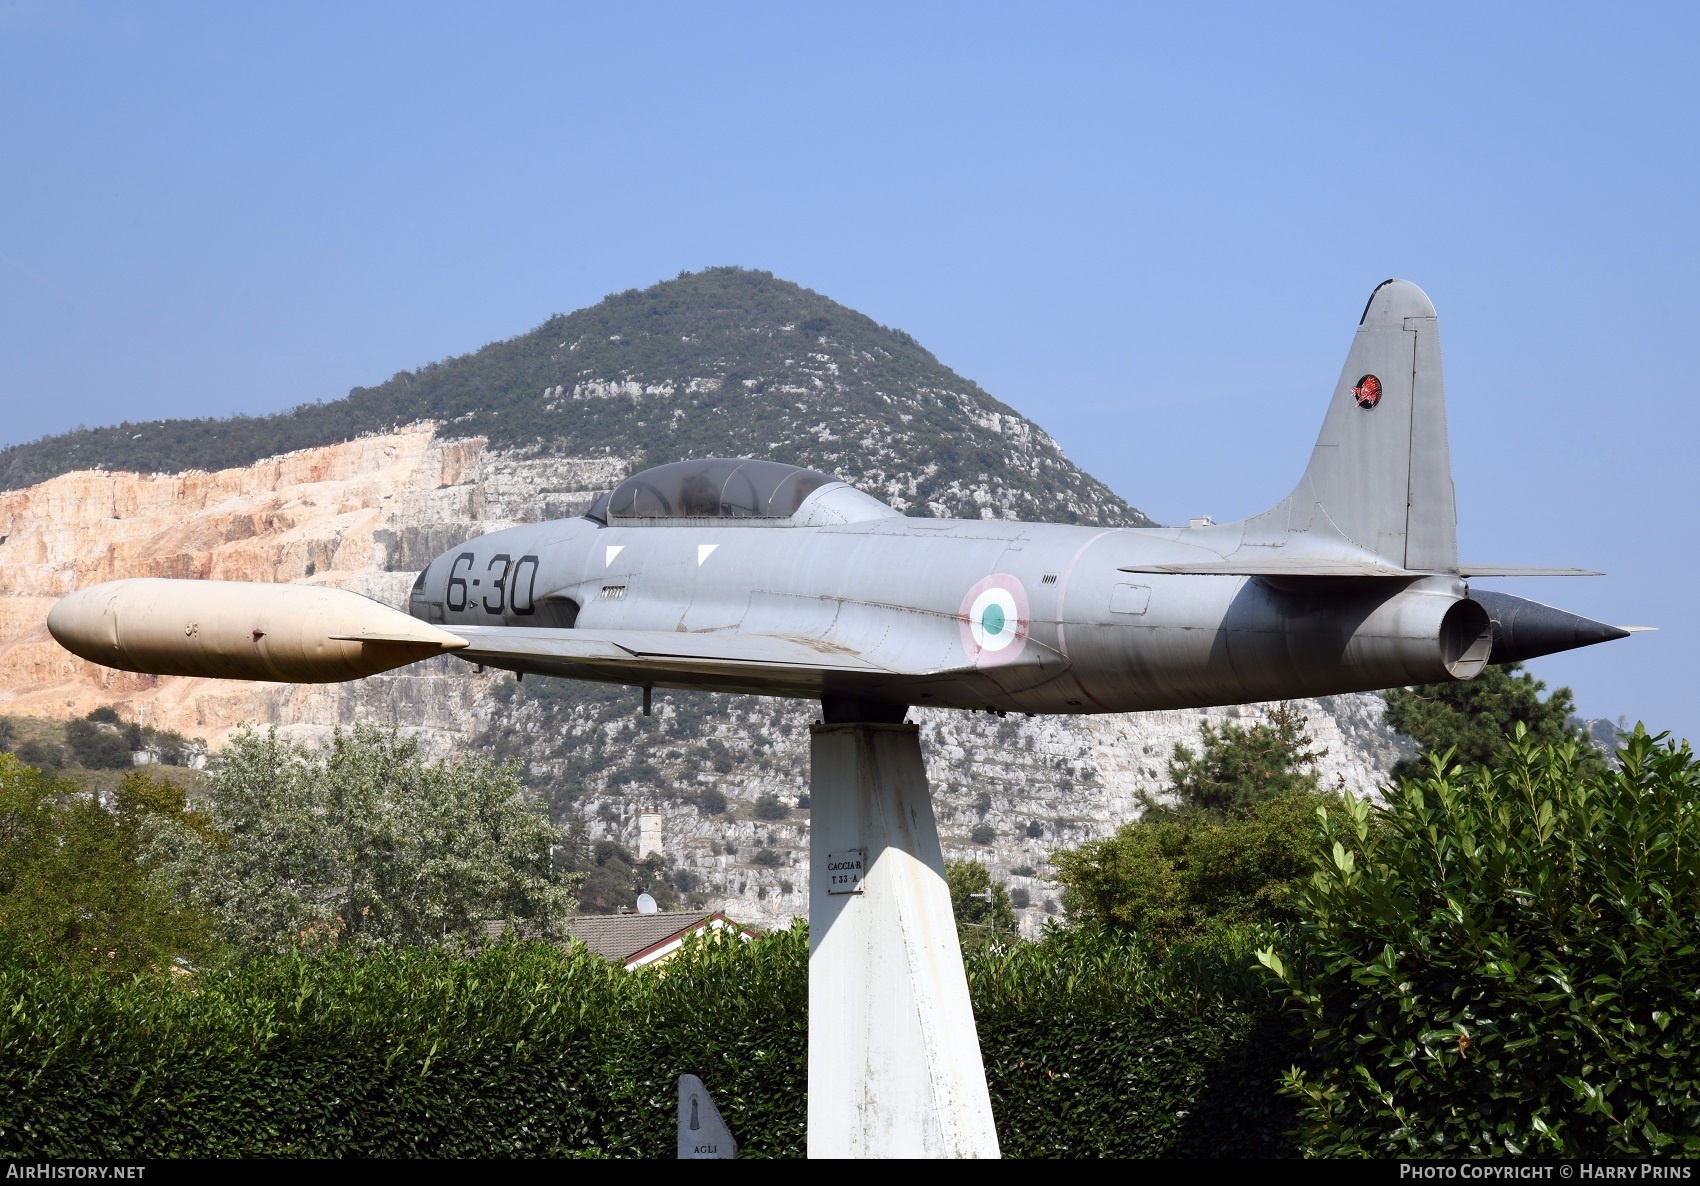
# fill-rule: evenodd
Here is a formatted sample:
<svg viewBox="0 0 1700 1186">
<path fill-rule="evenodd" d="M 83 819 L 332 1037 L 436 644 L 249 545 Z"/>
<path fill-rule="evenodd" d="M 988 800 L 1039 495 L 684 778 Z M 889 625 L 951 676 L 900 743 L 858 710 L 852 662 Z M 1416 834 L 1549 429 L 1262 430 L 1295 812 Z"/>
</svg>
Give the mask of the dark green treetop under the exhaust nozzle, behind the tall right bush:
<svg viewBox="0 0 1700 1186">
<path fill-rule="evenodd" d="M 1545 686 L 1522 663 L 1504 663 L 1482 668 L 1474 680 L 1389 688 L 1382 693 L 1387 702 L 1382 720 L 1421 749 L 1421 756 L 1394 765 L 1394 778 L 1425 775 L 1428 754 L 1452 753 L 1460 766 L 1496 766 L 1510 758 L 1518 726 L 1537 744 L 1583 743 L 1578 749 L 1583 771 L 1603 771 L 1605 754 L 1571 726 L 1571 690 L 1557 688 L 1542 700 Z"/>
</svg>

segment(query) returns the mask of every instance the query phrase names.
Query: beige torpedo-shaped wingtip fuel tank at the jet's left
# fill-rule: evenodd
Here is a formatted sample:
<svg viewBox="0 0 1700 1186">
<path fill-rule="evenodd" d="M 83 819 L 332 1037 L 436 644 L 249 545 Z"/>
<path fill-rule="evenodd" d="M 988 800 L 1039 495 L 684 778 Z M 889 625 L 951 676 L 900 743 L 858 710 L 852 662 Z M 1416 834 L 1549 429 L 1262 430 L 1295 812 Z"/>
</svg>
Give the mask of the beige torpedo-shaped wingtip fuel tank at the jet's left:
<svg viewBox="0 0 1700 1186">
<path fill-rule="evenodd" d="M 347 590 L 165 578 L 78 590 L 53 607 L 48 630 L 121 671 L 282 683 L 359 680 L 468 646 Z"/>
</svg>

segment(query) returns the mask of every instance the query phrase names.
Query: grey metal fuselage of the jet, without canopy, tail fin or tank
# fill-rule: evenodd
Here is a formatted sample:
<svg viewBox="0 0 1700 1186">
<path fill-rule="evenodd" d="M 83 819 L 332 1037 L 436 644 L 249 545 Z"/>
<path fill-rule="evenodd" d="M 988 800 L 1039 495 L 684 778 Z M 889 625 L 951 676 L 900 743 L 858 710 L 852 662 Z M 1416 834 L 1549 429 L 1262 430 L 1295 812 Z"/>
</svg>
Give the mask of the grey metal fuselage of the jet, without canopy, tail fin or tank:
<svg viewBox="0 0 1700 1186">
<path fill-rule="evenodd" d="M 626 664 L 479 651 L 481 637 L 464 656 L 539 675 L 809 698 L 840 693 L 957 709 L 1125 712 L 1450 678 L 1436 634 L 1465 595 L 1460 579 L 1375 581 L 1352 590 L 1331 578 L 1119 571 L 1173 556 L 1176 535 L 894 513 L 831 527 L 564 520 L 471 540 L 432 564 L 415 605 L 420 617 L 450 630 L 532 627 L 512 612 L 507 591 L 495 591 L 495 581 L 510 562 L 536 556 L 537 600 L 547 590 L 547 600 L 576 603 L 581 632 L 806 639 L 823 656 L 845 651 L 882 669 L 823 668 L 814 676 L 740 669 L 724 680 L 700 673 L 651 680 Z M 612 559 L 609 549 L 619 549 Z M 461 579 L 478 585 L 468 608 L 444 608 L 439 618 L 434 610 L 445 598 L 449 569 L 462 556 L 471 561 L 461 564 Z M 518 571 L 520 579 L 529 576 L 529 566 Z M 1005 647 L 991 651 L 972 642 L 969 593 L 998 578 L 1012 595 L 1025 595 L 1028 615 Z M 502 613 L 486 608 L 496 600 Z"/>
</svg>

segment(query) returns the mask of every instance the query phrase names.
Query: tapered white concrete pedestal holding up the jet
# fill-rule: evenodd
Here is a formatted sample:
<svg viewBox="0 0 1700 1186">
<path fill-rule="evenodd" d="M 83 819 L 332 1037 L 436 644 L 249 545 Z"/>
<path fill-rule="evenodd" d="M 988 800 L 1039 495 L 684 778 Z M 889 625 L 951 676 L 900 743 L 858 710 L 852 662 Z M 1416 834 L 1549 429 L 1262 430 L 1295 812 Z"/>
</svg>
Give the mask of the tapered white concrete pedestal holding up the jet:
<svg viewBox="0 0 1700 1186">
<path fill-rule="evenodd" d="M 920 731 L 811 732 L 809 1155 L 996 1157 Z"/>
</svg>

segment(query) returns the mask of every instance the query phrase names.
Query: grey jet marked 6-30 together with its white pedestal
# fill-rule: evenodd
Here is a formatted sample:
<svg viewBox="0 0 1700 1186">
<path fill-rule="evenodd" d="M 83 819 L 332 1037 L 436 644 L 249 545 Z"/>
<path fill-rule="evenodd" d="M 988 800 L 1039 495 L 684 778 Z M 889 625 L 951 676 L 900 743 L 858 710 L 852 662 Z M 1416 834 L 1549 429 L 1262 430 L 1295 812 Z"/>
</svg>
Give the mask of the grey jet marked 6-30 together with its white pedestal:
<svg viewBox="0 0 1700 1186">
<path fill-rule="evenodd" d="M 1622 637 L 1460 564 L 1440 338 L 1370 296 L 1299 486 L 1238 523 L 899 515 L 755 459 L 634 474 L 586 515 L 432 561 L 408 613 L 303 585 L 126 579 L 48 617 L 160 675 L 330 681 L 434 654 L 819 698 L 811 727 L 809 1152 L 998 1155 L 911 705 L 1076 714 L 1469 680 Z M 857 870 L 847 875 L 842 870 Z"/>
</svg>

